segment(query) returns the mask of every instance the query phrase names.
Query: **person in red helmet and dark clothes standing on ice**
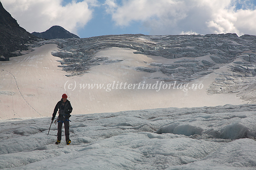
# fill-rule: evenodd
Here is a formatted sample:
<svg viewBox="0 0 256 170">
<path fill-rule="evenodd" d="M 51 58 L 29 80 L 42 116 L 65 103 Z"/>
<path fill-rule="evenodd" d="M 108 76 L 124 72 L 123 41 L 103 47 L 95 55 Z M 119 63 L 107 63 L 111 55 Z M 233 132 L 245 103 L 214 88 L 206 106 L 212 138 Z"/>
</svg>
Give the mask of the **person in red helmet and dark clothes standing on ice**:
<svg viewBox="0 0 256 170">
<path fill-rule="evenodd" d="M 70 113 L 72 112 L 73 108 L 70 104 L 70 101 L 67 100 L 67 94 L 62 94 L 61 100 L 56 104 L 52 114 L 52 121 L 54 120 L 58 110 L 59 116 L 56 120 L 58 122 L 58 133 L 57 142 L 55 142 L 55 144 L 58 145 L 59 143 L 61 143 L 61 129 L 62 124 L 64 123 L 66 142 L 67 145 L 69 145 L 71 143 L 71 140 L 69 139 L 69 118 L 71 116 Z"/>
</svg>

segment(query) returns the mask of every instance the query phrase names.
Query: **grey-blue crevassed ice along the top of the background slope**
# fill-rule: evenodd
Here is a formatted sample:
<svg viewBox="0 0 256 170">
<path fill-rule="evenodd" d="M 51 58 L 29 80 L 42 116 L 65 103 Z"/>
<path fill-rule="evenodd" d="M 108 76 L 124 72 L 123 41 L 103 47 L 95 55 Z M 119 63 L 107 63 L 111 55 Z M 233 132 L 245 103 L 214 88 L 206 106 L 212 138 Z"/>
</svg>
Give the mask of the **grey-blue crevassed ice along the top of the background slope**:
<svg viewBox="0 0 256 170">
<path fill-rule="evenodd" d="M 70 38 L 41 41 L 33 46 L 55 43 L 60 51 L 52 55 L 60 61 L 66 76 L 88 73 L 102 63 L 123 63 L 125 59 L 109 59 L 95 55 L 102 49 L 118 47 L 136 50 L 134 54 L 158 56 L 168 60 L 146 62 L 134 69 L 162 73 L 159 80 L 191 82 L 211 73 L 217 75 L 207 88 L 207 94 L 238 92 L 249 103 L 255 103 L 256 36 L 236 34 L 164 35 L 143 34 L 105 35 L 90 38 Z M 104 62 L 103 62 L 104 61 Z M 166 77 L 167 76 L 167 77 Z"/>
</svg>

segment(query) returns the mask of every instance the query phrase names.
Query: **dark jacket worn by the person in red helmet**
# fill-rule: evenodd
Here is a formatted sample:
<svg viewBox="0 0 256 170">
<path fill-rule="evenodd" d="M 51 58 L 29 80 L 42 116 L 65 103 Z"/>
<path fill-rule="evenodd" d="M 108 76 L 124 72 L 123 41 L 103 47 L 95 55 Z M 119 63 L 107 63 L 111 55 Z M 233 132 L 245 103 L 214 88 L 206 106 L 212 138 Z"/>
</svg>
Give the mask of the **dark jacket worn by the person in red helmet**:
<svg viewBox="0 0 256 170">
<path fill-rule="evenodd" d="M 70 104 L 70 101 L 66 101 L 65 103 L 63 102 L 63 99 L 61 99 L 55 106 L 52 117 L 55 118 L 56 113 L 59 110 L 59 115 L 70 115 L 72 112 L 73 108 Z"/>
</svg>

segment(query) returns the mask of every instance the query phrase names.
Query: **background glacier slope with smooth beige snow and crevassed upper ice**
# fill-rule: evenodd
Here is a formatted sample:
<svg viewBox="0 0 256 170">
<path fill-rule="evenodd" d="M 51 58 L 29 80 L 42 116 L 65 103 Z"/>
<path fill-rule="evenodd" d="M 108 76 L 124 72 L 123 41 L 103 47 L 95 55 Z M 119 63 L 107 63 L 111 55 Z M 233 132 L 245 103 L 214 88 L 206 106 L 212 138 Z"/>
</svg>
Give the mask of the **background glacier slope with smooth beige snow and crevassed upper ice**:
<svg viewBox="0 0 256 170">
<path fill-rule="evenodd" d="M 255 39 L 137 34 L 40 41 L 35 51 L 0 63 L 0 118 L 49 116 L 63 93 L 73 114 L 255 103 Z"/>
</svg>

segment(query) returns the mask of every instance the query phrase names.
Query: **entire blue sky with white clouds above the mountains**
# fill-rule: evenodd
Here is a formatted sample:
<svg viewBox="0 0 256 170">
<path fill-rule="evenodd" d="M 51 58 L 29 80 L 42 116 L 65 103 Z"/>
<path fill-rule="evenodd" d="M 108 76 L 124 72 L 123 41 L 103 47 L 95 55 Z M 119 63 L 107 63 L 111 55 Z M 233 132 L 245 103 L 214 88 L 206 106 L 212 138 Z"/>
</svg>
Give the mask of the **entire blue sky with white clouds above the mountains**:
<svg viewBox="0 0 256 170">
<path fill-rule="evenodd" d="M 0 0 L 29 32 L 256 35 L 256 0 Z"/>
</svg>

